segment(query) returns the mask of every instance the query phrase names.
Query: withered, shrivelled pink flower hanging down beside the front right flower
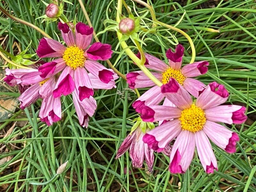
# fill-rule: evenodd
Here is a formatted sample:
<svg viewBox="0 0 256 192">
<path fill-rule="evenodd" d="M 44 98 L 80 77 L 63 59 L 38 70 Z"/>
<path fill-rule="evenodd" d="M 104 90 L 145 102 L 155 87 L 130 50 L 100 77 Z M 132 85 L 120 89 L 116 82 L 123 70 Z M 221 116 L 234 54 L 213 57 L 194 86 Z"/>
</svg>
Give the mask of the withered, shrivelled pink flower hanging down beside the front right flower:
<svg viewBox="0 0 256 192">
<path fill-rule="evenodd" d="M 130 157 L 132 166 L 141 168 L 144 157 L 148 165 L 148 171 L 152 172 L 154 164 L 154 150 L 148 147 L 148 144 L 142 141 L 145 133 L 140 128 L 137 128 L 132 134 L 129 134 L 116 153 L 116 159 L 122 156 L 130 148 Z"/>
</svg>

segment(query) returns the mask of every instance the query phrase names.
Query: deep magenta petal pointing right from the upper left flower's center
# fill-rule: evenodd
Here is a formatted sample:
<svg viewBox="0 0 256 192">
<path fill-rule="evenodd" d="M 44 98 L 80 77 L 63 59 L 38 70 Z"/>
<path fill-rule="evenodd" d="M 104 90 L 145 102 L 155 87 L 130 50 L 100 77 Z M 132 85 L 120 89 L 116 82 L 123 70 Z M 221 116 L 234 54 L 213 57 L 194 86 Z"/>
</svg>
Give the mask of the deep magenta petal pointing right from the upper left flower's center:
<svg viewBox="0 0 256 192">
<path fill-rule="evenodd" d="M 91 45 L 86 53 L 91 60 L 108 60 L 111 58 L 113 51 L 111 50 L 111 45 L 96 42 Z"/>
</svg>

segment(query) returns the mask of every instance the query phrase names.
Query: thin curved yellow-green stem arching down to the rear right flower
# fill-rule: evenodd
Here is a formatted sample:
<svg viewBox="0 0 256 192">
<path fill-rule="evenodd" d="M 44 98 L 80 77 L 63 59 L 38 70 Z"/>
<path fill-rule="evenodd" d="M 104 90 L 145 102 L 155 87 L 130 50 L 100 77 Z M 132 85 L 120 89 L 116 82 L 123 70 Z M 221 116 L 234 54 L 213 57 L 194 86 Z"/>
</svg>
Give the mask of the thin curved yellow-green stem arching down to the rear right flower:
<svg viewBox="0 0 256 192">
<path fill-rule="evenodd" d="M 188 39 L 188 42 L 189 42 L 189 44 L 190 44 L 190 46 L 191 46 L 191 50 L 192 50 L 192 57 L 191 57 L 190 63 L 194 63 L 195 58 L 196 58 L 196 49 L 195 49 L 195 45 L 194 45 L 194 43 L 193 43 L 191 37 L 190 37 L 187 33 L 185 33 L 184 31 L 180 30 L 179 28 L 176 28 L 176 27 L 173 27 L 173 26 L 168 25 L 168 24 L 166 24 L 166 23 L 163 23 L 163 22 L 161 22 L 161 21 L 158 21 L 158 20 L 156 19 L 156 14 L 155 14 L 155 12 L 154 12 L 154 10 L 153 10 L 153 8 L 152 8 L 151 5 L 149 5 L 149 4 L 147 4 L 146 2 L 141 1 L 141 0 L 134 0 L 134 1 L 137 2 L 137 3 L 139 3 L 139 4 L 144 5 L 145 7 L 147 7 L 147 8 L 149 9 L 150 14 L 151 14 L 151 17 L 152 17 L 152 20 L 153 20 L 155 23 L 157 23 L 158 25 L 164 26 L 164 27 L 166 27 L 166 28 L 172 29 L 172 30 L 174 30 L 174 31 L 177 31 L 177 32 L 179 32 L 180 34 L 182 34 L 183 36 L 185 36 L 185 37 Z"/>
</svg>

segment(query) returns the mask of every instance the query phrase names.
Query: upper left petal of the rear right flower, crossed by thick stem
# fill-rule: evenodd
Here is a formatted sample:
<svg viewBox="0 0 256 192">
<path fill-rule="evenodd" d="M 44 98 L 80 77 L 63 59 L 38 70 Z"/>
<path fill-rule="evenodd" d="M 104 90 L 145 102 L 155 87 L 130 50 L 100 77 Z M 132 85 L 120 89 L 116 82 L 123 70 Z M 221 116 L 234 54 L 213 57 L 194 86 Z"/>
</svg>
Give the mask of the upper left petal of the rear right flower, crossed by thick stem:
<svg viewBox="0 0 256 192">
<path fill-rule="evenodd" d="M 140 52 L 138 52 L 137 57 L 140 59 Z M 166 65 L 162 60 L 154 57 L 153 55 L 145 53 L 145 57 L 145 67 L 156 70 L 158 72 L 164 72 L 168 69 L 168 65 Z"/>
</svg>

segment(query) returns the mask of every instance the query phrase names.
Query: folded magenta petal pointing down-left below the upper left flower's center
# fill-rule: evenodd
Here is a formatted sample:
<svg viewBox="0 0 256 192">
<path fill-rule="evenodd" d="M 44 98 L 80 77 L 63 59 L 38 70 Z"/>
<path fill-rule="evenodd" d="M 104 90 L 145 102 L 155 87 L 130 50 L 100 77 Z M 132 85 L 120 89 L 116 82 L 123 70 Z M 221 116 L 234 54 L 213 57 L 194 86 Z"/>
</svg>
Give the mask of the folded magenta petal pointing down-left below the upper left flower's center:
<svg viewBox="0 0 256 192">
<path fill-rule="evenodd" d="M 53 91 L 55 98 L 60 97 L 62 94 L 66 96 L 75 90 L 75 83 L 72 76 L 73 70 L 68 66 L 64 68 Z"/>
</svg>

